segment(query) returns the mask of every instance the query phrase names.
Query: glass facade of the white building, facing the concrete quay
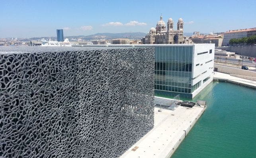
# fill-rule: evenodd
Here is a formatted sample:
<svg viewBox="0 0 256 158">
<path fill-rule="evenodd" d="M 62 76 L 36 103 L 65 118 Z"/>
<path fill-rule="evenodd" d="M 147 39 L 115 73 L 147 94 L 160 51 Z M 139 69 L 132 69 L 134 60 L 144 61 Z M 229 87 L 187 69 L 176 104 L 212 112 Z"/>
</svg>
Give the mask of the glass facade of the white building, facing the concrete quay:
<svg viewBox="0 0 256 158">
<path fill-rule="evenodd" d="M 192 98 L 193 46 L 155 47 L 155 94 Z"/>
</svg>

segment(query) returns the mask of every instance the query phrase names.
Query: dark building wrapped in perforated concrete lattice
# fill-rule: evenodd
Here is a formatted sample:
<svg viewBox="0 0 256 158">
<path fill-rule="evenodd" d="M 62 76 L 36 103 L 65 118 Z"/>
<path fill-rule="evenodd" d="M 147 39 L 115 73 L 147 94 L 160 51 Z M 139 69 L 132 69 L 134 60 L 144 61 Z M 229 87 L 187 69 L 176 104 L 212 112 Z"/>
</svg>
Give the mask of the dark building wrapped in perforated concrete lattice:
<svg viewBox="0 0 256 158">
<path fill-rule="evenodd" d="M 0 157 L 118 157 L 153 98 L 154 48 L 1 47 Z"/>
</svg>

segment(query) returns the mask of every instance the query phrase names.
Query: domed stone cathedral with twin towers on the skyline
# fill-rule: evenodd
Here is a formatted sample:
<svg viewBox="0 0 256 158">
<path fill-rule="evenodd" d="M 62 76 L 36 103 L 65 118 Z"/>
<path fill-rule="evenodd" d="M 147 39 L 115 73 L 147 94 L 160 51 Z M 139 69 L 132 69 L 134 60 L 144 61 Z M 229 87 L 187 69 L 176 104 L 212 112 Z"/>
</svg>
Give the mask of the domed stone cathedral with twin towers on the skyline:
<svg viewBox="0 0 256 158">
<path fill-rule="evenodd" d="M 156 28 L 152 27 L 145 37 L 145 44 L 182 44 L 183 25 L 182 18 L 178 20 L 177 30 L 173 29 L 173 20 L 170 18 L 167 22 L 167 29 L 162 15 L 160 21 L 156 24 Z"/>
</svg>

